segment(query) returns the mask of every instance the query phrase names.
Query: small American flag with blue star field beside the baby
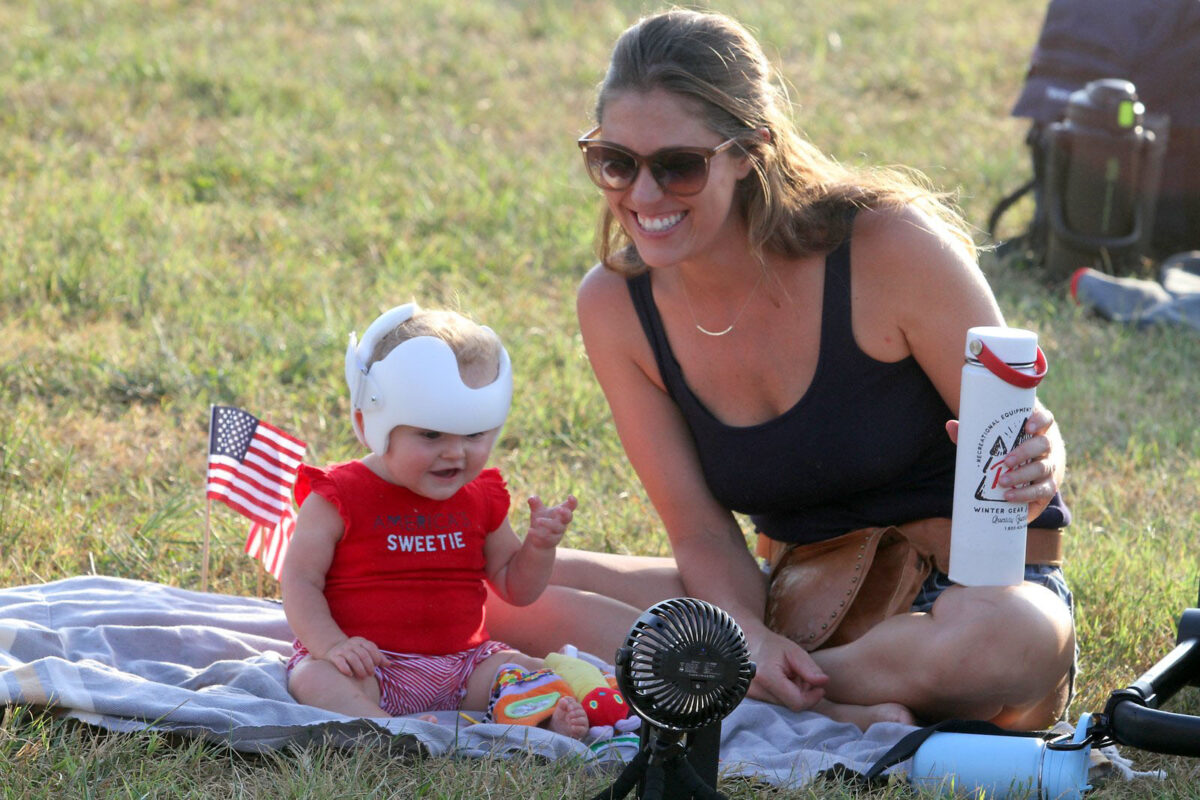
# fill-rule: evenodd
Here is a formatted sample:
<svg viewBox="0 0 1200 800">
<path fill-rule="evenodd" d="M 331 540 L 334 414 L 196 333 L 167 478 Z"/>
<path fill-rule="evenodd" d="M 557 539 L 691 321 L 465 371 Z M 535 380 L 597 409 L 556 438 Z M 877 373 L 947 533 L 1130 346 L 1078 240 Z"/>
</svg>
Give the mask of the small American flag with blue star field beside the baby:
<svg viewBox="0 0 1200 800">
<path fill-rule="evenodd" d="M 256 525 L 282 529 L 292 515 L 292 486 L 307 445 L 229 405 L 214 405 L 209 426 L 208 497 Z"/>
</svg>

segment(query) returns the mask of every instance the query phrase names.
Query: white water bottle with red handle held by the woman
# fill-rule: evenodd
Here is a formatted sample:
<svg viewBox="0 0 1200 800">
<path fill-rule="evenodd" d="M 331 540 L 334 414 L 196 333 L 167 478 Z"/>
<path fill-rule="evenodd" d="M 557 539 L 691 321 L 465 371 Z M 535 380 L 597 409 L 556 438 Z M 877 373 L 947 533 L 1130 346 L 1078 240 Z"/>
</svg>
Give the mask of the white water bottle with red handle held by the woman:
<svg viewBox="0 0 1200 800">
<path fill-rule="evenodd" d="M 959 395 L 959 444 L 950 521 L 950 579 L 1014 587 L 1025 579 L 1030 506 L 1007 503 L 1001 464 L 1028 434 L 1036 387 L 1046 372 L 1037 333 L 972 327 Z"/>
</svg>

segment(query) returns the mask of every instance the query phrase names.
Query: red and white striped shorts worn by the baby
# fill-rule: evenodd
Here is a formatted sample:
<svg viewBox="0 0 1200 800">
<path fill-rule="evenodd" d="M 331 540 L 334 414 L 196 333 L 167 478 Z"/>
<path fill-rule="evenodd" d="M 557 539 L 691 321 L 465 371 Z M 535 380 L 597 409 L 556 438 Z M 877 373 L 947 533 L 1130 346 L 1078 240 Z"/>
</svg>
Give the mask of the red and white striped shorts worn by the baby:
<svg viewBox="0 0 1200 800">
<path fill-rule="evenodd" d="M 310 655 L 299 642 L 294 646 L 288 672 Z M 382 650 L 388 662 L 376 667 L 379 706 L 391 716 L 455 710 L 467 694 L 467 679 L 475 667 L 490 656 L 511 649 L 503 642 L 488 639 L 479 646 L 444 656 Z"/>
</svg>

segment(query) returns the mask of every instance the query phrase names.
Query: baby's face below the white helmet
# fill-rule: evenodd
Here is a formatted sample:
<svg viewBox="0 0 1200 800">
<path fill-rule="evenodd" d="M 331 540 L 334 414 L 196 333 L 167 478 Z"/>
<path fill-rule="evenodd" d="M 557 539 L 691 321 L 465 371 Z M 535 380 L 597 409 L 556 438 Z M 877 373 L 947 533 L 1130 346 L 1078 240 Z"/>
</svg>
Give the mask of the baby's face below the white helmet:
<svg viewBox="0 0 1200 800">
<path fill-rule="evenodd" d="M 499 432 L 461 435 L 398 425 L 382 458 L 384 477 L 431 500 L 446 500 L 479 476 Z"/>
</svg>

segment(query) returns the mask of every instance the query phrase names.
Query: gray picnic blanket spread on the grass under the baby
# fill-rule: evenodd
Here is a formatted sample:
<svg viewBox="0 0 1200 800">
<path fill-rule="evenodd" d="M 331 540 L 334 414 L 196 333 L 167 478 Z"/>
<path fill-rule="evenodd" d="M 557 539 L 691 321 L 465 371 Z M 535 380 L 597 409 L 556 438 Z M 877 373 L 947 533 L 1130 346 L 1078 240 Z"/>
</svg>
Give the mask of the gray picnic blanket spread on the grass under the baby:
<svg viewBox="0 0 1200 800">
<path fill-rule="evenodd" d="M 635 735 L 576 741 L 540 728 L 439 712 L 350 718 L 287 691 L 292 632 L 274 601 L 98 576 L 0 589 L 0 703 L 46 706 L 115 732 L 156 729 L 264 752 L 331 741 L 431 756 L 536 753 L 619 768 Z M 911 727 L 854 726 L 744 700 L 721 728 L 721 771 L 802 786 L 842 764 L 866 770 Z"/>
</svg>

